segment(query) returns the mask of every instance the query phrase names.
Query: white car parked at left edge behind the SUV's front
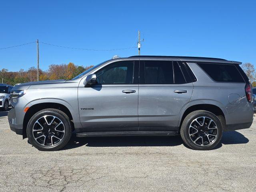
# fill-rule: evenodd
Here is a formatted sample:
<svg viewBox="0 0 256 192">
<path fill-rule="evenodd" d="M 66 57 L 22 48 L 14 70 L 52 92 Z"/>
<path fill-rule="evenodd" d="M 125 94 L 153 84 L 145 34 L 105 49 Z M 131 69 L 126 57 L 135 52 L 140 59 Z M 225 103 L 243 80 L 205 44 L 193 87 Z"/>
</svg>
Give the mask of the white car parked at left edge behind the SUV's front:
<svg viewBox="0 0 256 192">
<path fill-rule="evenodd" d="M 7 84 L 0 84 L 0 109 L 5 111 L 9 108 L 10 92 L 13 86 Z"/>
</svg>

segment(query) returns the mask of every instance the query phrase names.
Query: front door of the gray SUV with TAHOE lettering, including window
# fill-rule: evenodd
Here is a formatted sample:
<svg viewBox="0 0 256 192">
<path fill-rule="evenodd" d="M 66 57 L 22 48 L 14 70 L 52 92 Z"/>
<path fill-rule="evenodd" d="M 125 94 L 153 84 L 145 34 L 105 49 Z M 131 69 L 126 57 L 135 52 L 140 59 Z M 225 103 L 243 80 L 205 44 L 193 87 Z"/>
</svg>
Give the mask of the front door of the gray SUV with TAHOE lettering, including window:
<svg viewBox="0 0 256 192">
<path fill-rule="evenodd" d="M 97 84 L 78 88 L 81 131 L 138 131 L 138 61 L 119 61 L 94 72 Z"/>
</svg>

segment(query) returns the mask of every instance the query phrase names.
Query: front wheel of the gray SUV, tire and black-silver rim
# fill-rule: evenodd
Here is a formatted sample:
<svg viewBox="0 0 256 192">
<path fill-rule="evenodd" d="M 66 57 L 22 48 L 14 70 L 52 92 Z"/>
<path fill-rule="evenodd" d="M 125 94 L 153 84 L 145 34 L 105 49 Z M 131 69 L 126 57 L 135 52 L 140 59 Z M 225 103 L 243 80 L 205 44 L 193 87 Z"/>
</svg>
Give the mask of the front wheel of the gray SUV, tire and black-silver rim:
<svg viewBox="0 0 256 192">
<path fill-rule="evenodd" d="M 71 138 L 72 127 L 68 116 L 58 109 L 44 109 L 32 116 L 27 126 L 30 143 L 41 151 L 63 148 Z"/>
</svg>

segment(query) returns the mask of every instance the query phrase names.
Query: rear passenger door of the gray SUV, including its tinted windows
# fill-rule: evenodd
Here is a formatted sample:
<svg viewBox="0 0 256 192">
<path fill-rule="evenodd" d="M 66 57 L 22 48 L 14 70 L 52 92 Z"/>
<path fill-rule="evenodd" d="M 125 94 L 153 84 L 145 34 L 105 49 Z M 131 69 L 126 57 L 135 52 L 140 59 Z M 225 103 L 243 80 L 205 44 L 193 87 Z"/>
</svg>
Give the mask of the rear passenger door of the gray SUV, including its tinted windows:
<svg viewBox="0 0 256 192">
<path fill-rule="evenodd" d="M 140 60 L 139 130 L 177 130 L 193 88 L 184 63 Z"/>
</svg>

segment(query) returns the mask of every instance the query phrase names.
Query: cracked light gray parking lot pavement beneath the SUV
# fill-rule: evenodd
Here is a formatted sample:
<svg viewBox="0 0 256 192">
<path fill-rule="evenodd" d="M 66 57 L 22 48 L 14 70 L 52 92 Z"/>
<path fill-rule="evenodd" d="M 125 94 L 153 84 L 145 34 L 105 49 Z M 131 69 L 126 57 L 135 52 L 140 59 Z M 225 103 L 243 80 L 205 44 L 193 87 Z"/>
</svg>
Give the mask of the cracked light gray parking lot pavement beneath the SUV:
<svg viewBox="0 0 256 192">
<path fill-rule="evenodd" d="M 225 132 L 214 150 L 186 148 L 180 136 L 72 136 L 41 152 L 12 132 L 0 111 L 0 191 L 256 191 L 256 120 Z"/>
</svg>

